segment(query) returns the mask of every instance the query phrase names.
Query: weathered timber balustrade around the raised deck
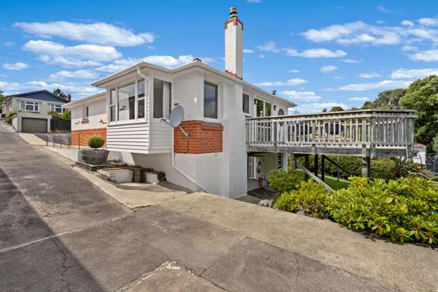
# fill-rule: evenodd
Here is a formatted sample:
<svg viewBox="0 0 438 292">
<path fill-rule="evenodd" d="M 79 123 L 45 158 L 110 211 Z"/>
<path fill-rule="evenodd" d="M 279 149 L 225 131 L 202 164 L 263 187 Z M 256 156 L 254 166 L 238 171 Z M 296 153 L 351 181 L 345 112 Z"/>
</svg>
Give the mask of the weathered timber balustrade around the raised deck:
<svg viewBox="0 0 438 292">
<path fill-rule="evenodd" d="M 348 110 L 246 119 L 249 152 L 411 157 L 415 110 Z"/>
</svg>

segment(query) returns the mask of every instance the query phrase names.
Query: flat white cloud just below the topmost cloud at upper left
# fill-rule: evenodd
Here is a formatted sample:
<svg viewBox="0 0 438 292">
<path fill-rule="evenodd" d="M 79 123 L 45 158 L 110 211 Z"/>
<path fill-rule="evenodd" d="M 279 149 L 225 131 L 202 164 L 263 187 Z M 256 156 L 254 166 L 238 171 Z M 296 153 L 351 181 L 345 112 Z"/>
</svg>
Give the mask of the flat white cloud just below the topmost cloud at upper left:
<svg viewBox="0 0 438 292">
<path fill-rule="evenodd" d="M 100 45 L 67 47 L 51 40 L 29 40 L 23 45 L 23 50 L 40 55 L 38 59 L 41 62 L 65 67 L 100 66 L 100 62 L 122 57 L 114 47 Z"/>
</svg>

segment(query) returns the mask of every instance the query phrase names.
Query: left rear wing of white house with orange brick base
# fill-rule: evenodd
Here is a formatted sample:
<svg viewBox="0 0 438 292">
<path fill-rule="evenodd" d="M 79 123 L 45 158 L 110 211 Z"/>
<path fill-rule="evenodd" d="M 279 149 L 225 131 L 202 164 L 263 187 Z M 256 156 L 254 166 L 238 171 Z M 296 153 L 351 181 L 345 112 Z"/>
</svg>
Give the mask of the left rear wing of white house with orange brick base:
<svg viewBox="0 0 438 292">
<path fill-rule="evenodd" d="M 99 93 L 64 105 L 71 110 L 71 143 L 86 146 L 88 139 L 100 136 L 106 140 L 106 93 Z"/>
</svg>

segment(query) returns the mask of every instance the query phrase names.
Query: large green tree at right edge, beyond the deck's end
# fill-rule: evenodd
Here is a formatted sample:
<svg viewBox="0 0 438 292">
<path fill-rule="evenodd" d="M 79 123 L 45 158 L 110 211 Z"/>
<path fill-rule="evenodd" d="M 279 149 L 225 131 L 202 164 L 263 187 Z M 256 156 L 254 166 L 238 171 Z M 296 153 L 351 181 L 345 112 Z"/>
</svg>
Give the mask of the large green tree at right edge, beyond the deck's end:
<svg viewBox="0 0 438 292">
<path fill-rule="evenodd" d="M 417 110 L 415 141 L 431 151 L 438 134 L 438 76 L 431 75 L 409 85 L 406 95 L 400 98 L 400 108 Z"/>
</svg>

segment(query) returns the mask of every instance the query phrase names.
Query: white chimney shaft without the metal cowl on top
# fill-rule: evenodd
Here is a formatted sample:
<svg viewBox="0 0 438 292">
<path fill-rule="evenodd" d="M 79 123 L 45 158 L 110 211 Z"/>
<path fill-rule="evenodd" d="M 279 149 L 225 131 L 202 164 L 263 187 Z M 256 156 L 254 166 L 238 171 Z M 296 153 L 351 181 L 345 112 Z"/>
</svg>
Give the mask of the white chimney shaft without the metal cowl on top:
<svg viewBox="0 0 438 292">
<path fill-rule="evenodd" d="M 228 23 L 225 29 L 225 69 L 243 77 L 243 29 L 241 23 Z"/>
</svg>

